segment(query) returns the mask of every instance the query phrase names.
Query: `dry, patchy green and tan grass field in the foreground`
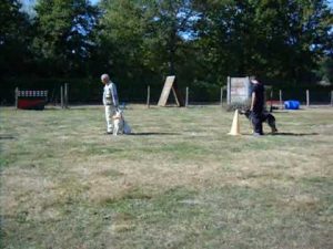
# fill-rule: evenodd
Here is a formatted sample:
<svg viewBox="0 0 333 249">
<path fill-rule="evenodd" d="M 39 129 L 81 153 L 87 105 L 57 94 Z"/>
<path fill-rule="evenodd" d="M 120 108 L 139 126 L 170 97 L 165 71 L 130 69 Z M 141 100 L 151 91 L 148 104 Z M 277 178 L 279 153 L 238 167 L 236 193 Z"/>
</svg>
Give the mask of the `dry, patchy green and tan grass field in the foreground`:
<svg viewBox="0 0 333 249">
<path fill-rule="evenodd" d="M 333 248 L 333 108 L 229 136 L 219 106 L 0 108 L 0 248 Z"/>
</svg>

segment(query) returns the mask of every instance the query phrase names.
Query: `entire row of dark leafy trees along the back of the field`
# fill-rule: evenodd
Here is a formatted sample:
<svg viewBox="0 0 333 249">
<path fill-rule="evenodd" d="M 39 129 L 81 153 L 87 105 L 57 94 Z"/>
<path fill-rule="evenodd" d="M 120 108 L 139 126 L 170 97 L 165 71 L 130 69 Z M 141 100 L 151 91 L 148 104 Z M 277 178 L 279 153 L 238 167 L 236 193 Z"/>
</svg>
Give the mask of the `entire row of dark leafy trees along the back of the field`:
<svg viewBox="0 0 333 249">
<path fill-rule="evenodd" d="M 327 0 L 37 0 L 31 12 L 21 7 L 0 2 L 7 86 L 12 79 L 97 81 L 104 72 L 132 90 L 171 74 L 208 89 L 245 75 L 333 82 Z"/>
</svg>

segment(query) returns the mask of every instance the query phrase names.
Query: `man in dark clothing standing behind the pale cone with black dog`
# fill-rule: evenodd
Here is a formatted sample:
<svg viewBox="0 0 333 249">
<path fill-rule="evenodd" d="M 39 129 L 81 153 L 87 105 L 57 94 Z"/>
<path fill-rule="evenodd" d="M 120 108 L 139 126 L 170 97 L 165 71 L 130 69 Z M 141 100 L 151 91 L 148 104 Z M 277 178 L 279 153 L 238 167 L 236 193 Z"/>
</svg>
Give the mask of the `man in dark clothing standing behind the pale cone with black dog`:
<svg viewBox="0 0 333 249">
<path fill-rule="evenodd" d="M 264 86 L 258 80 L 252 79 L 252 100 L 251 100 L 251 122 L 253 124 L 254 136 L 263 135 L 263 108 L 264 108 Z"/>
</svg>

